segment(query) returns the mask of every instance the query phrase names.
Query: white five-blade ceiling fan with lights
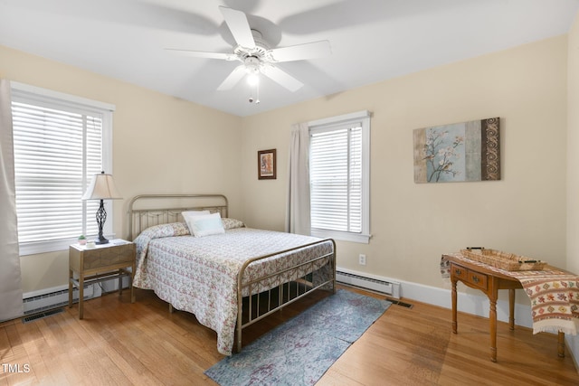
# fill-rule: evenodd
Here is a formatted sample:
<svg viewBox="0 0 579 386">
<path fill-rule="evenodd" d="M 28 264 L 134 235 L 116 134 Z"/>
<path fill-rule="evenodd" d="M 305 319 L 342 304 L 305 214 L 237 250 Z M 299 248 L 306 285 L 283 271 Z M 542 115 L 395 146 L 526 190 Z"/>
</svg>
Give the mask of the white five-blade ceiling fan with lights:
<svg viewBox="0 0 579 386">
<path fill-rule="evenodd" d="M 263 41 L 261 33 L 250 27 L 247 16 L 242 11 L 222 5 L 219 6 L 219 9 L 223 14 L 225 24 L 227 24 L 233 34 L 233 39 L 237 43 L 233 48 L 233 53 L 166 49 L 169 52 L 197 58 L 241 61 L 242 64 L 233 69 L 229 76 L 219 85 L 218 90 L 232 89 L 245 76 L 248 76 L 250 84 L 255 84 L 258 81 L 259 74 L 263 74 L 293 92 L 300 89 L 303 83 L 287 72 L 280 70 L 279 67 L 275 66 L 275 63 L 303 61 L 327 56 L 331 53 L 328 41 L 308 42 L 271 49 Z"/>
</svg>

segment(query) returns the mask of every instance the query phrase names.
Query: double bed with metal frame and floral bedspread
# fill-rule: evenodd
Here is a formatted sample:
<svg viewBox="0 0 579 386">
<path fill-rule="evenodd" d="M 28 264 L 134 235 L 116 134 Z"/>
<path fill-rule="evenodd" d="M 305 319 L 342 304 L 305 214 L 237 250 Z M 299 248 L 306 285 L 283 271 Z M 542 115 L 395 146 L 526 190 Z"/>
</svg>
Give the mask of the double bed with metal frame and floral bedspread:
<svg viewBox="0 0 579 386">
<path fill-rule="evenodd" d="M 183 212 L 201 211 L 219 218 L 223 232 L 199 237 L 190 230 Z M 242 350 L 246 326 L 311 291 L 336 291 L 334 240 L 246 227 L 228 217 L 222 194 L 141 194 L 128 215 L 137 245 L 133 285 L 155 291 L 171 312 L 194 314 L 217 333 L 224 355 L 235 342 Z"/>
</svg>

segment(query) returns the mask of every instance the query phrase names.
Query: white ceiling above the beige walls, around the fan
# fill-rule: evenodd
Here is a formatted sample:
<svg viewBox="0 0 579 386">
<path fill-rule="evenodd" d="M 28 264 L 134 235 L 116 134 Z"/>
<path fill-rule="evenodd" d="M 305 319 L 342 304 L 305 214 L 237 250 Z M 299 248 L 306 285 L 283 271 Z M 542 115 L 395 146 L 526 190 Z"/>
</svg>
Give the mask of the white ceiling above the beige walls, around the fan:
<svg viewBox="0 0 579 386">
<path fill-rule="evenodd" d="M 236 61 L 219 5 L 245 12 L 271 48 L 328 40 L 332 54 L 279 63 L 305 86 L 262 79 L 217 91 Z M 567 33 L 579 0 L 0 0 L 0 44 L 238 116 L 249 116 Z M 0 61 L 0 70 L 2 62 Z"/>
</svg>

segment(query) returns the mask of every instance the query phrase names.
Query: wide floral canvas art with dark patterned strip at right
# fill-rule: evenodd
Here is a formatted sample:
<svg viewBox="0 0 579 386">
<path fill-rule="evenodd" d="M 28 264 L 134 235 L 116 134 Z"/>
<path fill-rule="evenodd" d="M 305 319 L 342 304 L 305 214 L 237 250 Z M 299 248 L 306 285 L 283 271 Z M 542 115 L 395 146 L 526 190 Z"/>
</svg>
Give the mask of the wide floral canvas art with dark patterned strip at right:
<svg viewBox="0 0 579 386">
<path fill-rule="evenodd" d="M 414 183 L 500 180 L 499 118 L 417 128 Z"/>
</svg>

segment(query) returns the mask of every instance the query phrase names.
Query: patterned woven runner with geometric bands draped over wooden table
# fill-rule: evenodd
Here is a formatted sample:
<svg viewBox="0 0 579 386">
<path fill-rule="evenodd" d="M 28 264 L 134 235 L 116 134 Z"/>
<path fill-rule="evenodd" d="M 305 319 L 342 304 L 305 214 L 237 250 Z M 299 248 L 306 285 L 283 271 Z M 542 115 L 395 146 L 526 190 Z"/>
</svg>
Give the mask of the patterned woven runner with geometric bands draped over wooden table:
<svg viewBox="0 0 579 386">
<path fill-rule="evenodd" d="M 453 257 L 517 278 L 531 300 L 533 334 L 540 332 L 575 335 L 579 331 L 579 276 L 557 268 L 508 271 L 469 259 L 460 253 Z M 442 255 L 442 278 L 450 278 L 449 260 Z"/>
</svg>

